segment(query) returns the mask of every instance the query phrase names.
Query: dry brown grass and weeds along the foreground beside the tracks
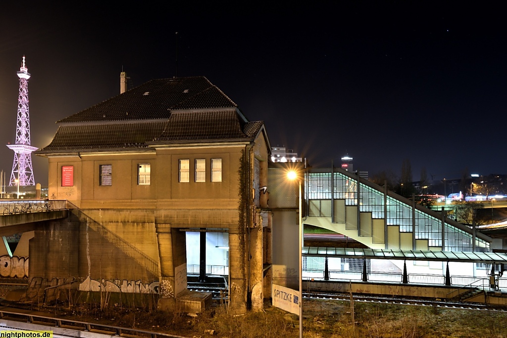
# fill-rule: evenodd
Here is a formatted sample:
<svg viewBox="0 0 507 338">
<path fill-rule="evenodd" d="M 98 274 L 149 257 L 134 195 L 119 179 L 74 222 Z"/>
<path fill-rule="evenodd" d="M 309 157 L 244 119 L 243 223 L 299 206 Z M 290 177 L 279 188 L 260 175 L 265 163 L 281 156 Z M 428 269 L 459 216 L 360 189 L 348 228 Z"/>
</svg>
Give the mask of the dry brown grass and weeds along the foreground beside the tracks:
<svg viewBox="0 0 507 338">
<path fill-rule="evenodd" d="M 47 308 L 58 316 L 81 321 L 166 332 L 188 337 L 289 338 L 299 335 L 297 315 L 265 305 L 263 312 L 233 316 L 225 306 L 215 306 L 197 317 L 175 312 L 81 305 L 69 309 Z M 43 310 L 43 309 L 41 309 Z M 43 310 L 44 311 L 44 310 Z M 339 301 L 304 303 L 305 338 L 507 338 L 507 314 L 436 307 L 355 304 L 351 322 L 350 304 Z"/>
</svg>

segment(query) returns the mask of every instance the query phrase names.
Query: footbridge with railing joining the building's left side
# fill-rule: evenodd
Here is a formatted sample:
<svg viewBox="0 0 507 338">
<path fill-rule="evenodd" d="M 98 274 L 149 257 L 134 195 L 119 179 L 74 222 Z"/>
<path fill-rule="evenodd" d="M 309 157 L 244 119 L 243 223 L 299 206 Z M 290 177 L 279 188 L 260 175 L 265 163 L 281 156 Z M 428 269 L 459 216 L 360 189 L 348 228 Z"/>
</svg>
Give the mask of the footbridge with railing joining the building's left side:
<svg viewBox="0 0 507 338">
<path fill-rule="evenodd" d="M 66 200 L 0 200 L 0 236 L 32 231 L 38 222 L 67 216 Z"/>
</svg>

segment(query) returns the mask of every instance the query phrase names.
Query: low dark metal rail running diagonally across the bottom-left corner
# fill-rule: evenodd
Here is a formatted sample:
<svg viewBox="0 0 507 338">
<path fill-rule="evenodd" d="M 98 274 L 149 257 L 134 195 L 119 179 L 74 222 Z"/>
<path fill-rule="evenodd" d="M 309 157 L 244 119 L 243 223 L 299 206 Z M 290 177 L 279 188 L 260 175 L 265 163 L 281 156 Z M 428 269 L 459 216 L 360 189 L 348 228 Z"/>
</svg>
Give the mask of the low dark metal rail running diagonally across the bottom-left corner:
<svg viewBox="0 0 507 338">
<path fill-rule="evenodd" d="M 113 325 L 106 325 L 106 324 L 98 324 L 98 323 L 90 323 L 90 322 L 82 322 L 78 320 L 69 320 L 69 319 L 63 319 L 63 318 L 57 318 L 57 317 L 47 317 L 47 316 L 41 316 L 41 315 L 34 315 L 32 313 L 25 314 L 15 311 L 6 311 L 6 310 L 0 310 L 0 318 L 5 318 L 6 315 L 14 315 L 14 316 L 21 316 L 23 318 L 26 318 L 27 323 L 32 323 L 34 319 L 43 319 L 43 321 L 38 321 L 37 324 L 46 325 L 50 327 L 59 327 L 61 325 L 64 325 L 62 323 L 67 324 L 74 324 L 70 326 L 76 326 L 80 327 L 82 326 L 83 331 L 90 331 L 92 329 L 100 329 L 102 331 L 108 331 L 108 332 L 114 332 L 115 335 L 118 336 L 131 336 L 133 334 L 139 334 L 139 335 L 150 335 L 151 338 L 157 338 L 157 337 L 168 337 L 168 338 L 189 338 L 182 335 L 174 335 L 174 334 L 168 334 L 168 333 L 160 333 L 160 332 L 153 332 L 153 331 L 146 331 L 146 330 L 139 330 L 135 328 L 128 328 L 128 327 L 120 327 L 120 326 L 113 326 Z M 10 316 L 9 316 L 10 317 Z M 10 317 L 12 318 L 12 317 Z M 17 318 L 12 318 L 13 320 Z M 54 322 L 54 325 L 49 325 L 49 322 Z M 76 325 L 78 324 L 78 325 Z M 129 333 L 125 333 L 129 332 Z"/>
</svg>

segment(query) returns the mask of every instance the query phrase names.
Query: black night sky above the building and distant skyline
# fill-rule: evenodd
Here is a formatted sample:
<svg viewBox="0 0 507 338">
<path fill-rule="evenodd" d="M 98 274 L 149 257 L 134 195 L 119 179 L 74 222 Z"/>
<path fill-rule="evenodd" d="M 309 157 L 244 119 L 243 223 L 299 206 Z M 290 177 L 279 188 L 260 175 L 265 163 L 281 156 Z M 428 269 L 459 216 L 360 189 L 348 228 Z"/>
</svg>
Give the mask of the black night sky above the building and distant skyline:
<svg viewBox="0 0 507 338">
<path fill-rule="evenodd" d="M 19 3 L 0 5 L 2 144 L 15 142 L 23 55 L 31 145 L 44 147 L 58 119 L 118 95 L 122 69 L 134 87 L 175 76 L 178 32 L 177 76 L 206 76 L 313 166 L 348 153 L 370 175 L 400 175 L 406 158 L 414 180 L 423 166 L 434 179 L 507 174 L 499 2 Z M 12 161 L 1 146 L 9 175 Z M 32 161 L 46 185 L 47 159 Z"/>
</svg>

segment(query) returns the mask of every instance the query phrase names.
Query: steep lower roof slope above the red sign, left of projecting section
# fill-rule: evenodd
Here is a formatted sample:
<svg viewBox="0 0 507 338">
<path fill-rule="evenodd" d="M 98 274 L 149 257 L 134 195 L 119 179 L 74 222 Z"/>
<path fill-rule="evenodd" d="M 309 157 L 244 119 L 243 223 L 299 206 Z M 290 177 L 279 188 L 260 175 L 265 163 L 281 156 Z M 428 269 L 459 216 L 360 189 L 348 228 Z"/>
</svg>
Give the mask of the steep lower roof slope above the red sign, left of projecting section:
<svg viewBox="0 0 507 338">
<path fill-rule="evenodd" d="M 167 120 L 107 124 L 63 124 L 51 143 L 38 153 L 62 150 L 145 148 L 160 135 Z"/>
</svg>

